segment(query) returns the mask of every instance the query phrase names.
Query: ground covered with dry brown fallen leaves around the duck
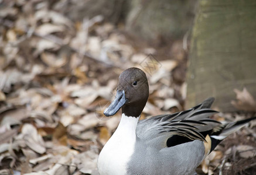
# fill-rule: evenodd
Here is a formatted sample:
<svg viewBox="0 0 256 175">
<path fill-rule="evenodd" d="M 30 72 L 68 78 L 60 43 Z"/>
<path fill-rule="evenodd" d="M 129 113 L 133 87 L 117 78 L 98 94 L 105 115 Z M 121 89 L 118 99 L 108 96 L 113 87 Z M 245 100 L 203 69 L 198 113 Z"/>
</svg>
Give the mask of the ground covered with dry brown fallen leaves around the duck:
<svg viewBox="0 0 256 175">
<path fill-rule="evenodd" d="M 152 46 L 103 16 L 71 21 L 57 10 L 61 3 L 49 9 L 47 1 L 10 1 L 1 9 L 0 174 L 97 174 L 98 153 L 120 121 L 120 113 L 103 111 L 129 67 L 148 76 L 142 119 L 184 110 L 189 46 Z M 255 126 L 228 136 L 197 172 L 256 174 Z"/>
</svg>

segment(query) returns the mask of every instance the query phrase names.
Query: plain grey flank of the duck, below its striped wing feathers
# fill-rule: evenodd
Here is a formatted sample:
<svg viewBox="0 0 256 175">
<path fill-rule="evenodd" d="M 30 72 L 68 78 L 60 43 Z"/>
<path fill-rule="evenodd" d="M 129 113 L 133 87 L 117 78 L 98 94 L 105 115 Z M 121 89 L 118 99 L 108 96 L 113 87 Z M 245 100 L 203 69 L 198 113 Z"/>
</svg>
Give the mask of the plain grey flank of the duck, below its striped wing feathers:
<svg viewBox="0 0 256 175">
<path fill-rule="evenodd" d="M 199 140 L 162 149 L 153 148 L 139 139 L 137 141 L 135 153 L 128 162 L 127 174 L 194 174 L 204 155 L 203 142 Z"/>
</svg>

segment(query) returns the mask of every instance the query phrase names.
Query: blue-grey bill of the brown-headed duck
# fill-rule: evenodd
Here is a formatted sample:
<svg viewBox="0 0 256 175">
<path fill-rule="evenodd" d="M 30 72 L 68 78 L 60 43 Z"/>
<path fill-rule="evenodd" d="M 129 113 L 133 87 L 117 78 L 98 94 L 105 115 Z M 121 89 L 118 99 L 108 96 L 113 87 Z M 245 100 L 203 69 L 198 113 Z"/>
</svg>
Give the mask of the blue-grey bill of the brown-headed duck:
<svg viewBox="0 0 256 175">
<path fill-rule="evenodd" d="M 117 111 L 120 110 L 120 108 L 124 106 L 125 103 L 126 103 L 126 99 L 125 99 L 124 90 L 122 91 L 117 90 L 117 95 L 115 95 L 114 101 L 112 101 L 110 106 L 108 106 L 104 110 L 104 115 L 106 115 L 107 117 L 110 117 L 111 115 L 115 115 L 115 113 L 117 113 Z"/>
</svg>

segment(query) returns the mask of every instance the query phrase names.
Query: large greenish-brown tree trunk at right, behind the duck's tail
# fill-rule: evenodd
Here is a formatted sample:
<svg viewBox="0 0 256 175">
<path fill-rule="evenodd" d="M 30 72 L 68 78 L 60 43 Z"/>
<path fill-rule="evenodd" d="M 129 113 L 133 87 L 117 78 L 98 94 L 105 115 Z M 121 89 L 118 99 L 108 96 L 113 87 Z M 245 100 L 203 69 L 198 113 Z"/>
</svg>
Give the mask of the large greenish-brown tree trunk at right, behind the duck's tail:
<svg viewBox="0 0 256 175">
<path fill-rule="evenodd" d="M 256 1 L 200 0 L 196 15 L 187 103 L 216 97 L 221 111 L 235 111 L 234 89 L 256 97 Z"/>
</svg>

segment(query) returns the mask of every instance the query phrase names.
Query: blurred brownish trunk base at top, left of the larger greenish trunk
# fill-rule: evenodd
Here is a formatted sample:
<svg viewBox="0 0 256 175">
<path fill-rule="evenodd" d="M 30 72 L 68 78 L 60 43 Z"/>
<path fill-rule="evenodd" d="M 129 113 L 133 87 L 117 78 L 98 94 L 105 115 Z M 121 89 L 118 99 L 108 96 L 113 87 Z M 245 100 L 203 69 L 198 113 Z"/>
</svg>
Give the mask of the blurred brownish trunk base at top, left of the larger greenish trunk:
<svg viewBox="0 0 256 175">
<path fill-rule="evenodd" d="M 125 28 L 154 43 L 182 38 L 193 26 L 196 0 L 132 0 Z"/>
</svg>

